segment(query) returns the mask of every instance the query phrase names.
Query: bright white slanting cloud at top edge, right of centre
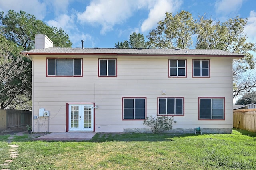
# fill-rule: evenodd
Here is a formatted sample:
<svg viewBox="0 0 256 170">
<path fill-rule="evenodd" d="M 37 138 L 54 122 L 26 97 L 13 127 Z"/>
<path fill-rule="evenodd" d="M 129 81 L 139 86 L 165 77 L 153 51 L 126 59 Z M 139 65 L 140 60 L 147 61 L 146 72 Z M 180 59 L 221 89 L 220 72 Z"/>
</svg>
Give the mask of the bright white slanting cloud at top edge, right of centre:
<svg viewBox="0 0 256 170">
<path fill-rule="evenodd" d="M 142 32 L 153 28 L 160 20 L 165 18 L 166 12 L 175 12 L 182 4 L 180 0 L 158 0 L 150 8 L 148 18 L 142 23 L 140 30 Z"/>
</svg>

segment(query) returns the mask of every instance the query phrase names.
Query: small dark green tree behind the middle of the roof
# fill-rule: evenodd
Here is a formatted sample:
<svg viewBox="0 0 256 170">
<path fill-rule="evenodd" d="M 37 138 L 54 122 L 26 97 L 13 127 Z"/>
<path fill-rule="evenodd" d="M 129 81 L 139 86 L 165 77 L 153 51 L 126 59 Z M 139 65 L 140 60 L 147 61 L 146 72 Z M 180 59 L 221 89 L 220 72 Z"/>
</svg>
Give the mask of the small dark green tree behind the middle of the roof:
<svg viewBox="0 0 256 170">
<path fill-rule="evenodd" d="M 135 32 L 130 35 L 129 41 L 118 42 L 115 44 L 115 48 L 146 48 L 146 42 L 143 34 L 136 34 Z"/>
</svg>

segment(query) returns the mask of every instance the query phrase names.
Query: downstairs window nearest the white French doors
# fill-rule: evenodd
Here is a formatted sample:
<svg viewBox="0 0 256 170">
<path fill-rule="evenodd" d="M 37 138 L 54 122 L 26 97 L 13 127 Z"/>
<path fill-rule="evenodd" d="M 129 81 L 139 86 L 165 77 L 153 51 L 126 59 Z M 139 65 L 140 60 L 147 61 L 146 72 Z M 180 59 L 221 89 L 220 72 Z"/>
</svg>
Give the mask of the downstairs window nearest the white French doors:
<svg viewBox="0 0 256 170">
<path fill-rule="evenodd" d="M 146 119 L 146 97 L 123 97 L 123 119 Z"/>
</svg>

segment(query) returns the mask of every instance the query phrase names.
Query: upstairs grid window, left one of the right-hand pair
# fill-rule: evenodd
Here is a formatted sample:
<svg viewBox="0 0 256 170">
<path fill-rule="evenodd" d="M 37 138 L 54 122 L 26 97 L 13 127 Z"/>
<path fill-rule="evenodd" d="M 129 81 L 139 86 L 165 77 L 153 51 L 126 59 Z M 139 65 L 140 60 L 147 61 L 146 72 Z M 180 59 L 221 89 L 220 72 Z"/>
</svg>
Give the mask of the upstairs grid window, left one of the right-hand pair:
<svg viewBox="0 0 256 170">
<path fill-rule="evenodd" d="M 186 60 L 169 60 L 169 77 L 186 77 Z"/>
</svg>

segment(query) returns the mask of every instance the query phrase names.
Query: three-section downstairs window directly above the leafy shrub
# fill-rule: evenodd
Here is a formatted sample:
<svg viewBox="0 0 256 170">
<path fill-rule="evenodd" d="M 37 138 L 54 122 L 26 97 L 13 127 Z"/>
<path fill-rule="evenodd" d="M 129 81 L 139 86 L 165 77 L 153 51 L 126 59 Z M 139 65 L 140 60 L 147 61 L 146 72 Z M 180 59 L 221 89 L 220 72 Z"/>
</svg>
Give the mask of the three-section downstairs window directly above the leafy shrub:
<svg viewBox="0 0 256 170">
<path fill-rule="evenodd" d="M 184 97 L 158 97 L 158 115 L 184 115 Z"/>
</svg>

